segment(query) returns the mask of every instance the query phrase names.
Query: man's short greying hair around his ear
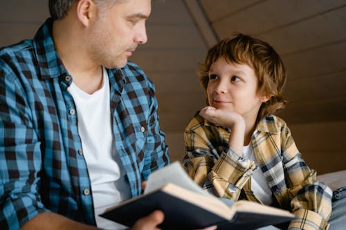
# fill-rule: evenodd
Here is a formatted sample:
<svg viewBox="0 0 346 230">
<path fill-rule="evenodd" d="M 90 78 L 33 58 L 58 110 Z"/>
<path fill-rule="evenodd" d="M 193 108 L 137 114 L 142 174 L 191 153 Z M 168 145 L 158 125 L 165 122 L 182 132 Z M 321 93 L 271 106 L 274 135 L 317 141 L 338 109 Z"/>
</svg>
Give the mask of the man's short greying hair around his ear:
<svg viewBox="0 0 346 230">
<path fill-rule="evenodd" d="M 63 19 L 67 15 L 69 8 L 76 1 L 78 0 L 49 0 L 48 6 L 51 17 L 53 19 Z M 101 6 L 109 6 L 107 4 L 115 3 L 116 1 L 119 0 L 93 0 L 95 4 L 99 4 Z"/>
</svg>

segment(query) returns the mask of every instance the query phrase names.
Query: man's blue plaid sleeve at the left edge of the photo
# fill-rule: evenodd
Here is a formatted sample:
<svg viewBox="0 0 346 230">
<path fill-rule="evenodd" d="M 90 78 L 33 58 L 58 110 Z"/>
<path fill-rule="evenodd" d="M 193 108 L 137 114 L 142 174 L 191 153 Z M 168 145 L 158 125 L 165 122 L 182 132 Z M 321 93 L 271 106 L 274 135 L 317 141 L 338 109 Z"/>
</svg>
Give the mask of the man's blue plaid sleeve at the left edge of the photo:
<svg viewBox="0 0 346 230">
<path fill-rule="evenodd" d="M 39 197 L 41 151 L 24 89 L 0 59 L 0 226 L 19 229 L 48 211 Z"/>
</svg>

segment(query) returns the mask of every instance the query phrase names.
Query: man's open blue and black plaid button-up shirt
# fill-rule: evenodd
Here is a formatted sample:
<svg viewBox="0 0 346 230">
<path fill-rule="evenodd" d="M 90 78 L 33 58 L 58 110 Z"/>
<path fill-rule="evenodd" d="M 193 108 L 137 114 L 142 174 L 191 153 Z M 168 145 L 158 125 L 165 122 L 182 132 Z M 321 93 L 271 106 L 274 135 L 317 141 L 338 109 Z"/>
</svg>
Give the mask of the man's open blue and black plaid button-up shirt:
<svg viewBox="0 0 346 230">
<path fill-rule="evenodd" d="M 33 40 L 0 50 L 0 226 L 19 229 L 53 211 L 95 225 L 91 182 L 82 154 L 72 77 L 57 55 L 48 19 Z M 157 100 L 143 70 L 107 69 L 113 135 L 131 195 L 170 163 Z"/>
</svg>

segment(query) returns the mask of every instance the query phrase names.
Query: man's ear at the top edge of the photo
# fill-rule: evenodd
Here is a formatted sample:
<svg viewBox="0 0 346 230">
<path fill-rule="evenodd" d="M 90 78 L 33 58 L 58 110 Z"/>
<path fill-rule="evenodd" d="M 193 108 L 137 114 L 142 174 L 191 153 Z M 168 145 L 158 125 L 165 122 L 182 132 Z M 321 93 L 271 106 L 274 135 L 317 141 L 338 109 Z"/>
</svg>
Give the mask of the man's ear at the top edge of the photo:
<svg viewBox="0 0 346 230">
<path fill-rule="evenodd" d="M 96 6 L 92 0 L 80 0 L 77 3 L 77 17 L 83 26 L 89 26 L 90 20 L 96 15 Z"/>
</svg>

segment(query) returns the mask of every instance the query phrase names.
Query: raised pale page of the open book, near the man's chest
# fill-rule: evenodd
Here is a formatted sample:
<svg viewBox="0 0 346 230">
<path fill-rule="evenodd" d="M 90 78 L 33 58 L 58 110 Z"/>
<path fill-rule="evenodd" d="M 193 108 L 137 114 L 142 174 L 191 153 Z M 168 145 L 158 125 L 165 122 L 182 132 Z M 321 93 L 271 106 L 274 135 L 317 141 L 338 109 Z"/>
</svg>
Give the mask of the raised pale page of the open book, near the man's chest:
<svg viewBox="0 0 346 230">
<path fill-rule="evenodd" d="M 150 174 L 144 193 L 160 189 L 168 183 L 176 184 L 184 189 L 194 191 L 195 193 L 210 195 L 190 178 L 188 173 L 183 169 L 183 166 L 181 166 L 180 162 L 173 162 L 172 164 Z"/>
</svg>

